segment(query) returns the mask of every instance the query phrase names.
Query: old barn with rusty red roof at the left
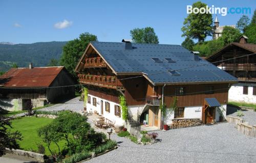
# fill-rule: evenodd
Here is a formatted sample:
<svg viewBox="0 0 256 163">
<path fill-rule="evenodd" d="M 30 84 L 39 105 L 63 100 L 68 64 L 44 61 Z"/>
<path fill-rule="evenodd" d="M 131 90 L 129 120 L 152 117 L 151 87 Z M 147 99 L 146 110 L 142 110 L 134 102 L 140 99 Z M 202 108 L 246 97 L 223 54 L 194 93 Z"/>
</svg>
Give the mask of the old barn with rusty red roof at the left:
<svg viewBox="0 0 256 163">
<path fill-rule="evenodd" d="M 75 95 L 73 78 L 64 66 L 11 68 L 0 76 L 0 98 L 10 111 L 25 110 L 32 102 L 34 107 L 62 101 Z"/>
</svg>

